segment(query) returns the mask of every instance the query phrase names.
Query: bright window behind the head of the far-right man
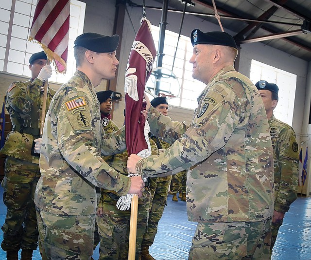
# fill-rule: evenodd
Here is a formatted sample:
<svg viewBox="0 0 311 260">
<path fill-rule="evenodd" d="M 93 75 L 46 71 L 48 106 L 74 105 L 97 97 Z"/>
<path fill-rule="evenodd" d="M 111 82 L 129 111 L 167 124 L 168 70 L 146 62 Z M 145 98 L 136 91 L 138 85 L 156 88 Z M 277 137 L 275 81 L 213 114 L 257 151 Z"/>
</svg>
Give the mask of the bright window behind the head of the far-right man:
<svg viewBox="0 0 311 260">
<path fill-rule="evenodd" d="M 266 80 L 278 86 L 278 102 L 274 114 L 277 119 L 292 126 L 297 75 L 252 60 L 250 80 L 254 84 L 259 80 Z"/>
</svg>

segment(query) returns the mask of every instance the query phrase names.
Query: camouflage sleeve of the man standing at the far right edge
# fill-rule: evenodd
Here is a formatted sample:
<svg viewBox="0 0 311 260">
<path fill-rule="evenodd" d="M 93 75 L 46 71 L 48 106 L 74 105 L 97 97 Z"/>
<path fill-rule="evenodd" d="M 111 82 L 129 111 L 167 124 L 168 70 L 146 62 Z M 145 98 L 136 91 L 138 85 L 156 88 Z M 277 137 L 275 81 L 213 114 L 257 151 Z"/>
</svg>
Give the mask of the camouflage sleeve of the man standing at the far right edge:
<svg viewBox="0 0 311 260">
<path fill-rule="evenodd" d="M 297 199 L 299 153 L 293 129 L 284 129 L 279 141 L 279 173 L 275 173 L 275 178 L 279 177 L 280 181 L 275 182 L 275 210 L 285 213 Z"/>
</svg>

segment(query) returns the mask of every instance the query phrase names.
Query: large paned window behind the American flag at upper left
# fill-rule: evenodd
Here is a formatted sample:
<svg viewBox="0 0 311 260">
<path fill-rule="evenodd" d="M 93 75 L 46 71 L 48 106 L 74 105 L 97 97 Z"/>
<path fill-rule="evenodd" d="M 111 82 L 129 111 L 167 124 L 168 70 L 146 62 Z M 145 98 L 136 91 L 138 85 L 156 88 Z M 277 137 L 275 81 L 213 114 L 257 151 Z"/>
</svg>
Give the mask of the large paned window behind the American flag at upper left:
<svg viewBox="0 0 311 260">
<path fill-rule="evenodd" d="M 31 76 L 28 61 L 41 47 L 28 41 L 30 27 L 35 14 L 37 0 L 0 1 L 0 71 L 10 74 Z M 69 48 L 67 73 L 53 73 L 53 82 L 65 83 L 75 71 L 73 41 L 83 33 L 86 3 L 70 0 Z"/>
</svg>

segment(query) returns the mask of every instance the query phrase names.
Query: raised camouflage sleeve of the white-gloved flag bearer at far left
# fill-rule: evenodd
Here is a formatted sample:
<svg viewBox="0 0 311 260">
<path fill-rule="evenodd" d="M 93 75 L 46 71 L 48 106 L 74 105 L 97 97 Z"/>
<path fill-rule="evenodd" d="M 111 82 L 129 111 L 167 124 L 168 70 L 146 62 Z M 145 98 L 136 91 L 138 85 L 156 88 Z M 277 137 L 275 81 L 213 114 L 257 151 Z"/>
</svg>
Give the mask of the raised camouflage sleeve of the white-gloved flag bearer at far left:
<svg viewBox="0 0 311 260">
<path fill-rule="evenodd" d="M 42 84 L 42 81 L 37 78 L 30 84 L 27 84 L 27 82 L 14 82 L 7 91 L 6 102 L 18 113 L 29 113 L 34 100 L 40 94 L 39 88 Z"/>
</svg>

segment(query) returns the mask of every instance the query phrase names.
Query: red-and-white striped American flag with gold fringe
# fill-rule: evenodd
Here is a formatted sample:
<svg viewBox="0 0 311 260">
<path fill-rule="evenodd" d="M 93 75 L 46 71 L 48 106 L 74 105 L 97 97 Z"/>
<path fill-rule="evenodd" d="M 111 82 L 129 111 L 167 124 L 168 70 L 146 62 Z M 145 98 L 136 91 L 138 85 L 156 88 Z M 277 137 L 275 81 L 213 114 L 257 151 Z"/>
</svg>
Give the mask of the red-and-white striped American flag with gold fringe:
<svg viewBox="0 0 311 260">
<path fill-rule="evenodd" d="M 66 71 L 70 0 L 37 0 L 28 40 L 37 41 L 58 72 Z"/>
</svg>

